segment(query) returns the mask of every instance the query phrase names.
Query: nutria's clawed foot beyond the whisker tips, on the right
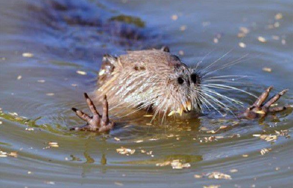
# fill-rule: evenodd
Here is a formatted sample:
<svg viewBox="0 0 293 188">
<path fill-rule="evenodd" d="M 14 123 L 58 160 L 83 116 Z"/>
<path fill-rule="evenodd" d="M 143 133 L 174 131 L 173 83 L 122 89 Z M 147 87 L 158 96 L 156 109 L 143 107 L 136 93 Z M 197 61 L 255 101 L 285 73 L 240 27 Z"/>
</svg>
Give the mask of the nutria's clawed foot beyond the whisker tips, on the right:
<svg viewBox="0 0 293 188">
<path fill-rule="evenodd" d="M 271 97 L 266 103 L 264 101 L 266 100 L 269 92 L 271 91 L 273 87 L 268 87 L 263 94 L 261 94 L 258 99 L 246 109 L 244 113 L 242 113 L 239 118 L 264 118 L 267 113 L 269 112 L 280 112 L 282 110 L 286 110 L 287 108 L 292 108 L 293 105 L 285 105 L 283 107 L 270 107 L 273 103 L 275 103 L 283 94 L 285 94 L 288 89 L 281 91 L 278 94 L 275 94 L 273 97 Z M 264 103 L 264 104 L 263 104 Z"/>
</svg>

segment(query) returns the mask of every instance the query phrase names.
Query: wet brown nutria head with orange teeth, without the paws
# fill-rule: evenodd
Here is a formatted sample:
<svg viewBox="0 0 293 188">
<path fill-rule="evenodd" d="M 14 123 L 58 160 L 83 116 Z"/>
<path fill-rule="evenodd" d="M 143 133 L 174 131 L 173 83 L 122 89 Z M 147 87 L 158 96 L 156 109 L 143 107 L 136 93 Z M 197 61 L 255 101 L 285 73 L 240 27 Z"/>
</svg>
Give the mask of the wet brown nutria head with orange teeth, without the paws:
<svg viewBox="0 0 293 188">
<path fill-rule="evenodd" d="M 200 76 L 164 47 L 104 56 L 98 94 L 107 94 L 112 108 L 136 108 L 155 116 L 200 111 Z"/>
</svg>

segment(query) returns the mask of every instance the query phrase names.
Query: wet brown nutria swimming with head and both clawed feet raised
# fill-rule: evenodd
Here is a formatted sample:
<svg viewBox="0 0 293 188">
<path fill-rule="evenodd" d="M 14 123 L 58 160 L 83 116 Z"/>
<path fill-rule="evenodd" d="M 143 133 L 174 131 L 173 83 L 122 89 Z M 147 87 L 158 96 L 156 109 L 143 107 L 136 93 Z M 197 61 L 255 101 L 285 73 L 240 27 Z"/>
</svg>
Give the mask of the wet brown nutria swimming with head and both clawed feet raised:
<svg viewBox="0 0 293 188">
<path fill-rule="evenodd" d="M 227 108 L 212 94 L 229 102 L 239 102 L 202 84 L 202 81 L 207 78 L 205 78 L 206 73 L 201 71 L 197 70 L 197 67 L 189 68 L 182 63 L 176 55 L 170 53 L 168 47 L 128 51 L 127 54 L 118 57 L 104 55 L 99 71 L 98 90 L 95 93 L 97 99 L 103 99 L 103 115 L 100 116 L 96 112 L 92 101 L 85 94 L 94 116 L 91 118 L 74 108 L 76 114 L 88 124 L 82 128 L 73 128 L 73 130 L 104 132 L 113 128 L 114 123 L 110 122 L 108 118 L 108 101 L 112 108 L 118 110 L 132 108 L 135 109 L 133 112 L 144 109 L 151 111 L 153 118 L 159 116 L 162 119 L 168 116 L 180 117 L 182 114 L 189 113 L 200 114 L 205 106 L 210 106 L 215 110 Z M 272 87 L 267 88 L 256 102 L 239 117 L 264 118 L 268 112 L 278 112 L 292 107 L 287 105 L 270 108 L 270 105 L 287 90 L 274 95 L 263 104 L 271 89 Z M 220 113 L 220 111 L 218 112 Z"/>
</svg>

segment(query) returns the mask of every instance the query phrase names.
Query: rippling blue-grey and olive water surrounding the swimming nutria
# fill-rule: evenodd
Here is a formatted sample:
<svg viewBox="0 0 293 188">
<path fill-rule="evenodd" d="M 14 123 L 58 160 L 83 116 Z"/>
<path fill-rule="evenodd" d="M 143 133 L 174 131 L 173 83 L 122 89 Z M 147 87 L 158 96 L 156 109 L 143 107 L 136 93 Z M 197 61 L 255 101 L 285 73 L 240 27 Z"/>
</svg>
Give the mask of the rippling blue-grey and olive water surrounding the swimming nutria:
<svg viewBox="0 0 293 188">
<path fill-rule="evenodd" d="M 112 117 L 118 126 L 109 135 L 68 130 L 83 124 L 70 108 L 86 109 L 82 94 L 95 89 L 102 55 L 118 55 L 125 49 L 167 45 L 183 62 L 195 66 L 209 52 L 203 65 L 234 48 L 219 65 L 247 53 L 248 58 L 219 74 L 250 75 L 243 81 L 249 83 L 238 87 L 256 95 L 269 85 L 274 86 L 273 92 L 289 88 L 278 103 L 292 104 L 292 1 L 89 0 L 60 4 L 53 0 L 2 0 L 0 4 L 0 150 L 18 152 L 17 158 L 0 158 L 0 187 L 292 186 L 292 139 L 280 136 L 271 144 L 252 136 L 292 131 L 290 110 L 264 121 L 240 120 L 238 126 L 217 134 L 204 129 L 215 130 L 236 119 L 210 112 L 169 126 L 149 126 L 146 117 Z M 282 14 L 280 20 L 274 18 L 277 13 Z M 241 26 L 250 30 L 244 38 L 237 37 Z M 266 43 L 258 41 L 259 36 Z M 239 42 L 246 47 L 239 47 Z M 23 57 L 25 52 L 33 57 Z M 263 71 L 264 67 L 272 71 Z M 78 70 L 87 75 L 77 74 Z M 254 100 L 239 92 L 222 92 L 242 101 L 244 107 Z M 9 114 L 14 112 L 18 115 Z M 232 137 L 235 134 L 240 137 Z M 205 137 L 213 135 L 225 138 L 205 142 Z M 59 147 L 46 148 L 50 141 L 58 142 Z M 136 151 L 120 155 L 116 152 L 120 146 Z M 262 148 L 271 151 L 261 155 Z M 152 151 L 153 156 L 142 149 Z M 155 165 L 176 159 L 191 167 L 175 170 L 170 165 Z M 214 171 L 232 179 L 194 178 Z"/>
</svg>

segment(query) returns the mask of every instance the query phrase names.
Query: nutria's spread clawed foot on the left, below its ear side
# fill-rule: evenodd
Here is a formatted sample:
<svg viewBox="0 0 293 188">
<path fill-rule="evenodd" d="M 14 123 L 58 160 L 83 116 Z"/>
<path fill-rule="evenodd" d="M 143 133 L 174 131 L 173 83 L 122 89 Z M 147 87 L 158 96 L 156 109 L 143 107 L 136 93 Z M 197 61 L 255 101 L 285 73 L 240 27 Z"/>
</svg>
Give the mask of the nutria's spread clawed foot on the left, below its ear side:
<svg viewBox="0 0 293 188">
<path fill-rule="evenodd" d="M 92 113 L 92 117 L 88 116 L 88 114 L 82 112 L 81 110 L 77 110 L 76 108 L 72 108 L 72 110 L 76 113 L 76 115 L 87 122 L 86 125 L 81 127 L 73 127 L 70 130 L 81 130 L 81 131 L 99 131 L 99 132 L 108 132 L 110 131 L 115 123 L 109 121 L 108 117 L 108 101 L 106 95 L 104 95 L 103 100 L 103 114 L 99 115 L 96 107 L 94 106 L 92 100 L 88 97 L 88 94 L 85 93 L 85 98 L 88 103 L 88 107 L 90 112 Z"/>
</svg>

